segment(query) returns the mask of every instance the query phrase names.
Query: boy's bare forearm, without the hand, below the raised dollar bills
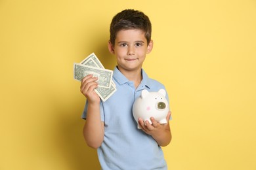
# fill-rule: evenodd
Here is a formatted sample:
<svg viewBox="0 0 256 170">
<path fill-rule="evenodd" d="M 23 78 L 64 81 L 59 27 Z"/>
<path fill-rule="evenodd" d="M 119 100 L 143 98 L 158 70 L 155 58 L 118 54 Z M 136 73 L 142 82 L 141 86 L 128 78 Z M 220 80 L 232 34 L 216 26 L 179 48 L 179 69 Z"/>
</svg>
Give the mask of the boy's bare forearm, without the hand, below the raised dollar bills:
<svg viewBox="0 0 256 170">
<path fill-rule="evenodd" d="M 83 127 L 83 135 L 88 146 L 98 148 L 104 138 L 104 122 L 100 120 L 100 105 L 91 105 L 87 108 L 87 118 Z"/>
</svg>

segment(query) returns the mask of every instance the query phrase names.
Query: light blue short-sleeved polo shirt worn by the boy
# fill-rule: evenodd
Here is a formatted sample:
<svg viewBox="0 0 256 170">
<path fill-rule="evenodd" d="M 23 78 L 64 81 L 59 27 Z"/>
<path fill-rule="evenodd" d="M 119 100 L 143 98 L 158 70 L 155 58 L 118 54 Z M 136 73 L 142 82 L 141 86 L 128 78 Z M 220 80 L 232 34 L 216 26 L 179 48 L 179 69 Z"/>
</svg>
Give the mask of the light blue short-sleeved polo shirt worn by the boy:
<svg viewBox="0 0 256 170">
<path fill-rule="evenodd" d="M 104 141 L 97 149 L 102 169 L 167 169 L 163 151 L 158 143 L 141 129 L 133 118 L 133 103 L 142 90 L 157 92 L 163 84 L 146 75 L 135 89 L 117 68 L 113 80 L 117 91 L 105 102 L 100 101 L 100 116 L 105 124 Z M 168 95 L 167 100 L 169 101 Z M 82 118 L 87 116 L 87 103 Z"/>
</svg>

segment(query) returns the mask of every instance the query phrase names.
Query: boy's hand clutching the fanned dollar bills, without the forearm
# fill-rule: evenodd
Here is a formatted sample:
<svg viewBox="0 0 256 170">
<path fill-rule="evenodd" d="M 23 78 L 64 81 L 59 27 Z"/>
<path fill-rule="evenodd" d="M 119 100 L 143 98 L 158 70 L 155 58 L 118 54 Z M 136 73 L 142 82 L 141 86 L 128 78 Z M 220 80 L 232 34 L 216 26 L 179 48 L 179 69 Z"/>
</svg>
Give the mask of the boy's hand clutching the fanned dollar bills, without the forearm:
<svg viewBox="0 0 256 170">
<path fill-rule="evenodd" d="M 89 103 L 100 103 L 100 97 L 95 92 L 95 88 L 98 87 L 97 77 L 93 75 L 87 75 L 81 81 L 80 92 L 85 95 Z"/>
</svg>

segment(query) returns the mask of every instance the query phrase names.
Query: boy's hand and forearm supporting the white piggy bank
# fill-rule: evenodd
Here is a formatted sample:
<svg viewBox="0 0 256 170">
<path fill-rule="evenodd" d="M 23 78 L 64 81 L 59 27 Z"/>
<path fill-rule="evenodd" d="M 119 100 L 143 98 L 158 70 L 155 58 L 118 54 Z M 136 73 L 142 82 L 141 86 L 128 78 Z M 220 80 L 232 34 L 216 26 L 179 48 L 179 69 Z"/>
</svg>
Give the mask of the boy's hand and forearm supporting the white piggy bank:
<svg viewBox="0 0 256 170">
<path fill-rule="evenodd" d="M 171 128 L 169 126 L 170 116 L 171 112 L 167 114 L 167 124 L 160 124 L 156 122 L 154 118 L 150 118 L 152 124 L 146 121 L 146 125 L 144 124 L 143 120 L 139 118 L 139 124 L 141 129 L 148 135 L 151 135 L 158 143 L 158 145 L 167 146 L 171 142 Z"/>
</svg>

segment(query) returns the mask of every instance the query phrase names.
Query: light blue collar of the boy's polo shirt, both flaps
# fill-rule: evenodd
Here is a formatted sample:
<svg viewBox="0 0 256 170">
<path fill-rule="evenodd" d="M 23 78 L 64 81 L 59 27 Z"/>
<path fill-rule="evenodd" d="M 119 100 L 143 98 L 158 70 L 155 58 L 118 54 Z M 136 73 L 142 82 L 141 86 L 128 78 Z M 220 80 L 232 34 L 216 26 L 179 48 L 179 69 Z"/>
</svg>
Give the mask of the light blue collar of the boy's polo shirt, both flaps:
<svg viewBox="0 0 256 170">
<path fill-rule="evenodd" d="M 150 78 L 148 78 L 148 75 L 143 69 L 141 69 L 141 71 L 142 71 L 142 81 L 140 82 L 140 85 L 150 88 Z M 117 69 L 117 67 L 115 67 L 114 69 L 113 77 L 116 80 L 116 82 L 120 85 L 129 82 L 129 80 Z"/>
</svg>

